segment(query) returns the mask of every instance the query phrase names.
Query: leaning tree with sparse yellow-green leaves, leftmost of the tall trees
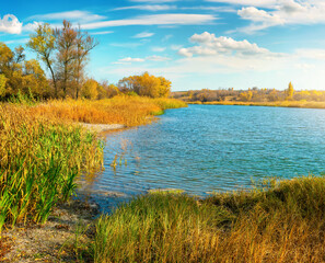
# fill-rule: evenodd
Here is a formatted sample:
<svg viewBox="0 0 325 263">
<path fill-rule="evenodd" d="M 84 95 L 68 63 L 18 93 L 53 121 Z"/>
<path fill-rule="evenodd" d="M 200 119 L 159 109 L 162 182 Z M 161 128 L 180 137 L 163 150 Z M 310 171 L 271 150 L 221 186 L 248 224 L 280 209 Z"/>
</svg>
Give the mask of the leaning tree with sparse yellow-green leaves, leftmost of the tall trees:
<svg viewBox="0 0 325 263">
<path fill-rule="evenodd" d="M 39 24 L 34 34 L 31 34 L 31 39 L 27 43 L 33 52 L 45 62 L 51 75 L 53 84 L 55 87 L 55 96 L 58 98 L 58 85 L 54 70 L 56 50 L 56 36 L 49 24 Z"/>
</svg>

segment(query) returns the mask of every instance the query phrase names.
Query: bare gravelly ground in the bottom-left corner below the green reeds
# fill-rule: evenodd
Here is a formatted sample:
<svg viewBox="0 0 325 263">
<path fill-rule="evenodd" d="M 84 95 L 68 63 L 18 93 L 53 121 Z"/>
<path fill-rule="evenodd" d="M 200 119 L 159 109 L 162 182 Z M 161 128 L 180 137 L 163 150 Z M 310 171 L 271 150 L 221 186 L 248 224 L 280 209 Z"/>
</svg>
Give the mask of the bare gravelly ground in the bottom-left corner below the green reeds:
<svg viewBox="0 0 325 263">
<path fill-rule="evenodd" d="M 94 237 L 93 219 L 97 215 L 94 203 L 70 201 L 55 207 L 44 225 L 31 222 L 4 229 L 0 262 L 76 262 L 76 238 L 82 247 Z"/>
</svg>

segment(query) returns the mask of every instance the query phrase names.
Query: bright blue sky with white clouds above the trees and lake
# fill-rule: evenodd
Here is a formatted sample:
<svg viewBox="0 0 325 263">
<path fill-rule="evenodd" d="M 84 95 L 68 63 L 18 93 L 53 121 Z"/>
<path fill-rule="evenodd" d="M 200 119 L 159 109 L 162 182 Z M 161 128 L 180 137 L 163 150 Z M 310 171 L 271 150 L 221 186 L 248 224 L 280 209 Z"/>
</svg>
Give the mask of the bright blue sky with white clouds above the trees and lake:
<svg viewBox="0 0 325 263">
<path fill-rule="evenodd" d="M 24 46 L 37 24 L 66 19 L 98 41 L 88 66 L 98 81 L 149 71 L 173 91 L 325 90 L 324 13 L 324 0 L 3 1 L 0 42 Z"/>
</svg>

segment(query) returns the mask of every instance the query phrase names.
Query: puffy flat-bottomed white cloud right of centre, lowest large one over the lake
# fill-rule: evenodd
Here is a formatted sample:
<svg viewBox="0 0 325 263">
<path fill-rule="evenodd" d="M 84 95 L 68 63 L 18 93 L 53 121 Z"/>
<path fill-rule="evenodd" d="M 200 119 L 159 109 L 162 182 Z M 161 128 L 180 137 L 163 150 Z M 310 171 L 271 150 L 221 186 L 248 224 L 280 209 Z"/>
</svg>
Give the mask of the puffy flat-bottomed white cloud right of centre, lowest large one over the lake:
<svg viewBox="0 0 325 263">
<path fill-rule="evenodd" d="M 216 56 L 216 55 L 229 55 L 229 56 L 274 56 L 266 48 L 258 47 L 256 44 L 252 44 L 245 41 L 234 41 L 231 37 L 220 36 L 216 37 L 214 34 L 205 32 L 202 34 L 194 34 L 189 41 L 198 44 L 197 46 L 181 48 L 178 54 L 184 57 L 197 56 Z"/>
</svg>

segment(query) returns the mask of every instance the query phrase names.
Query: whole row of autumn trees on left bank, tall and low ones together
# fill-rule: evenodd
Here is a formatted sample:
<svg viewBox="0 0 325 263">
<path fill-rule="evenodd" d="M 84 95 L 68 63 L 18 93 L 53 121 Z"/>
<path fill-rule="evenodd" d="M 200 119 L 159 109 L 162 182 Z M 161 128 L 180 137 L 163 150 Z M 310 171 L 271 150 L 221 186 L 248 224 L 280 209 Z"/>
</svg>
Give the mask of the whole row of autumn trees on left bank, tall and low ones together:
<svg viewBox="0 0 325 263">
<path fill-rule="evenodd" d="M 18 94 L 37 99 L 85 98 L 91 100 L 112 98 L 120 93 L 142 96 L 167 96 L 171 81 L 148 72 L 123 78 L 115 85 L 86 77 L 85 66 L 91 50 L 98 43 L 80 27 L 63 21 L 60 28 L 39 24 L 31 34 L 26 47 L 37 59 L 25 59 L 25 48 L 10 49 L 0 42 L 0 100 Z M 50 76 L 48 79 L 39 61 Z"/>
</svg>

